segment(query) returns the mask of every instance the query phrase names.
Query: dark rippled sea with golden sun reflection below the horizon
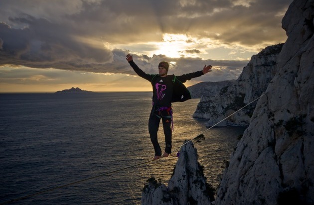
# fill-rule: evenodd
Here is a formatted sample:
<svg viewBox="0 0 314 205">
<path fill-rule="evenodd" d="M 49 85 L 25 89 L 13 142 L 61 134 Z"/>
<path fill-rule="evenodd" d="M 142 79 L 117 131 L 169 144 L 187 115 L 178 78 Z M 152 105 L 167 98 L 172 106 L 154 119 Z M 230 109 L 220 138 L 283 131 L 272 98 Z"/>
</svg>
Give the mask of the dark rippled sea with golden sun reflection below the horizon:
<svg viewBox="0 0 314 205">
<path fill-rule="evenodd" d="M 167 185 L 184 140 L 203 132 L 193 143 L 217 189 L 246 127 L 208 129 L 198 102 L 172 104 L 173 156 L 152 161 L 151 92 L 0 94 L 0 204 L 140 205 L 147 180 Z"/>
</svg>

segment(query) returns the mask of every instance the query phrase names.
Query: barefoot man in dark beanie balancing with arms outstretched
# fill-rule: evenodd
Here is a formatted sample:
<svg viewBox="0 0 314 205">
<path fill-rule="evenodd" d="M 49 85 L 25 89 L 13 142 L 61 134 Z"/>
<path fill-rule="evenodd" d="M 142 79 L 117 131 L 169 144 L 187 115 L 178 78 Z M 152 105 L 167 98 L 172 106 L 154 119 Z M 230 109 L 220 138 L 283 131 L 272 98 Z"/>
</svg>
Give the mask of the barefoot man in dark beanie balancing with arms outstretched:
<svg viewBox="0 0 314 205">
<path fill-rule="evenodd" d="M 153 108 L 149 119 L 149 132 L 151 141 L 155 149 L 154 160 L 161 157 L 168 157 L 171 153 L 171 137 L 172 137 L 172 109 L 171 103 L 184 102 L 191 99 L 191 95 L 187 88 L 183 85 L 187 80 L 200 77 L 211 71 L 212 66 L 204 66 L 202 71 L 188 73 L 182 76 L 167 75 L 169 64 L 160 62 L 158 65 L 158 74 L 146 74 L 133 61 L 133 56 L 128 54 L 127 60 L 134 71 L 142 78 L 150 81 L 153 86 Z M 157 132 L 160 119 L 162 120 L 163 133 L 165 140 L 164 153 L 161 155 L 161 149 L 157 140 Z"/>
</svg>

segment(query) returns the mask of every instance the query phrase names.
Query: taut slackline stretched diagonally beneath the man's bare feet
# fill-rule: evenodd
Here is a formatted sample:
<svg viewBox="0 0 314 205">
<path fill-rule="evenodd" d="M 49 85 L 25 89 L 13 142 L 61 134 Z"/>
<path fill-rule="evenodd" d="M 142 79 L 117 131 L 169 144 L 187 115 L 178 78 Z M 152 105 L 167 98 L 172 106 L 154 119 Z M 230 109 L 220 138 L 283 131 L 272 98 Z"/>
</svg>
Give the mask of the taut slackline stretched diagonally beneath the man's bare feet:
<svg viewBox="0 0 314 205">
<path fill-rule="evenodd" d="M 260 99 L 262 96 L 264 96 L 266 93 L 264 93 L 263 95 L 261 95 L 260 97 L 258 97 L 257 99 L 255 99 L 254 101 L 252 101 L 251 103 L 257 101 L 258 99 Z M 188 142 L 192 141 L 192 140 L 195 140 L 195 139 L 205 139 L 204 138 L 204 133 L 207 132 L 208 130 L 210 130 L 211 128 L 213 128 L 214 126 L 216 126 L 217 124 L 219 124 L 220 122 L 222 122 L 223 120 L 227 119 L 228 117 L 232 116 L 233 114 L 237 113 L 238 111 L 242 110 L 244 107 L 248 106 L 249 104 L 251 103 L 248 103 L 246 104 L 245 106 L 241 107 L 240 109 L 238 109 L 237 111 L 233 112 L 232 114 L 230 114 L 229 116 L 225 117 L 224 119 L 220 120 L 219 122 L 217 122 L 216 124 L 214 124 L 213 126 L 209 127 L 208 129 L 206 129 L 205 131 L 203 131 L 202 133 L 198 134 L 196 137 L 194 137 L 193 139 L 190 139 L 188 141 L 186 141 L 184 144 L 182 144 L 180 147 L 178 147 L 177 149 L 175 149 L 174 151 L 180 149 L 181 147 L 183 147 L 185 144 L 187 144 Z M 198 141 L 197 141 L 198 142 Z M 172 152 L 174 152 L 172 151 Z M 172 153 L 171 152 L 171 153 Z M 170 154 L 171 154 L 170 153 Z M 173 156 L 171 154 L 171 156 Z M 177 157 L 179 156 L 179 153 L 177 154 Z M 163 158 L 163 157 L 161 157 Z M 159 159 L 161 159 L 159 158 Z M 13 203 L 13 202 L 17 202 L 17 201 L 20 201 L 20 200 L 24 200 L 24 199 L 27 199 L 27 198 L 30 198 L 30 197 L 34 197 L 34 196 L 37 196 L 37 195 L 40 195 L 40 194 L 43 194 L 43 193 L 47 193 L 47 192 L 51 192 L 53 190 L 56 190 L 56 189 L 60 189 L 60 188 L 63 188 L 63 187 L 67 187 L 67 186 L 70 186 L 70 185 L 74 185 L 74 184 L 78 184 L 78 183 L 81 183 L 81 182 L 84 182 L 84 181 L 88 181 L 88 180 L 91 180 L 91 179 L 95 179 L 95 178 L 98 178 L 98 177 L 102 177 L 102 176 L 105 176 L 105 175 L 108 175 L 108 174 L 111 174 L 111 173 L 115 173 L 115 172 L 119 172 L 119 171 L 122 171 L 122 170 L 125 170 L 125 169 L 129 169 L 129 168 L 132 168 L 132 167 L 136 167 L 136 166 L 139 166 L 139 165 L 142 165 L 142 164 L 146 164 L 146 163 L 149 163 L 149 162 L 152 162 L 152 161 L 156 161 L 156 160 L 149 160 L 149 161 L 145 161 L 145 162 L 141 162 L 139 164 L 135 164 L 135 165 L 132 165 L 132 166 L 129 166 L 129 167 L 124 167 L 124 168 L 121 168 L 121 169 L 117 169 L 117 170 L 113 170 L 113 171 L 110 171 L 110 172 L 106 172 L 106 173 L 103 173 L 103 174 L 100 174 L 100 175 L 96 175 L 96 176 L 93 176 L 93 177 L 89 177 L 89 178 L 86 178 L 86 179 L 82 179 L 82 180 L 79 180 L 79 181 L 75 181 L 75 182 L 72 182 L 72 183 L 69 183 L 69 184 L 65 184 L 65 185 L 61 185 L 61 186 L 57 186 L 57 187 L 53 187 L 53 188 L 50 188 L 50 189 L 47 189 L 47 190 L 43 190 L 43 191 L 40 191 L 40 192 L 36 192 L 36 193 L 33 193 L 33 194 L 30 194 L 30 195 L 26 195 L 24 197 L 20 197 L 20 198 L 16 198 L 16 199 L 12 199 L 12 200 L 9 200 L 9 201 L 5 201 L 5 202 L 2 202 L 0 203 L 0 205 L 4 205 L 4 204 L 9 204 L 9 203 Z"/>
</svg>

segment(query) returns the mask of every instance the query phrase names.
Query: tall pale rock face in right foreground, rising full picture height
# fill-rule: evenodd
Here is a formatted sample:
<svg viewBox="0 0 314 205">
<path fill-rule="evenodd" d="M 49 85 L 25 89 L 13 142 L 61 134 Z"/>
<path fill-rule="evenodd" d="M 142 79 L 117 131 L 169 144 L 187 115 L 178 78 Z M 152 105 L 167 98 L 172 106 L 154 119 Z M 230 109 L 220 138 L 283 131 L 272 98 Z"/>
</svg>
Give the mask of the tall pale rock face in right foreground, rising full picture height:
<svg viewBox="0 0 314 205">
<path fill-rule="evenodd" d="M 314 1 L 294 0 L 278 71 L 223 174 L 215 205 L 314 204 Z"/>
</svg>

